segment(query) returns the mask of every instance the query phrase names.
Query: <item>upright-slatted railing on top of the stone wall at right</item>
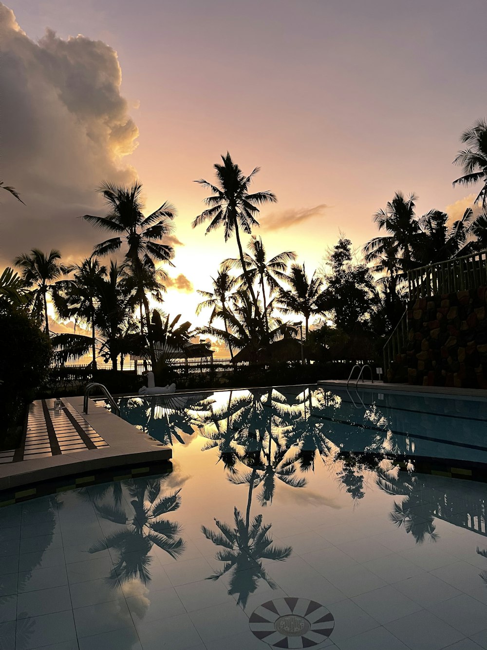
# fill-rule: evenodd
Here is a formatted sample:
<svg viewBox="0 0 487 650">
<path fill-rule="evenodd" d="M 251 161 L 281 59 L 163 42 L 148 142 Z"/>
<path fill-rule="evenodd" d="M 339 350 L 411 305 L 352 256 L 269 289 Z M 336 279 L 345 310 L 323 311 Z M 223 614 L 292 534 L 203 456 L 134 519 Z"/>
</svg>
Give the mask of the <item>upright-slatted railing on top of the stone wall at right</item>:
<svg viewBox="0 0 487 650">
<path fill-rule="evenodd" d="M 409 300 L 487 285 L 487 251 L 408 272 Z"/>
</svg>

